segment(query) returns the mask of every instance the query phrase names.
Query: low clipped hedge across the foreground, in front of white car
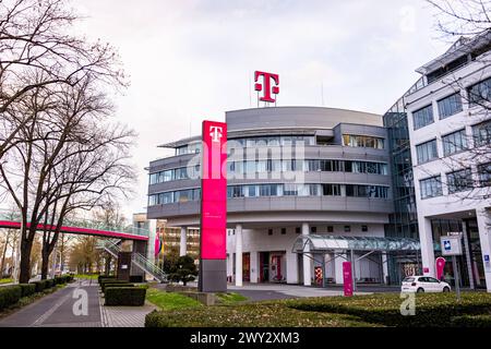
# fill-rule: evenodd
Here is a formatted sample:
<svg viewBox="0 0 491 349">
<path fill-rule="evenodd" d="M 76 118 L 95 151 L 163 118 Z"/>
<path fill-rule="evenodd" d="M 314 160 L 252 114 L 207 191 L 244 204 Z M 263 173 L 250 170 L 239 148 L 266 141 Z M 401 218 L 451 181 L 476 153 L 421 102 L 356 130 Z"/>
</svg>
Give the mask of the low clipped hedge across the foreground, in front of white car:
<svg viewBox="0 0 491 349">
<path fill-rule="evenodd" d="M 380 326 L 487 326 L 491 327 L 491 294 L 464 292 L 423 293 L 415 299 L 416 314 L 403 316 L 399 293 L 320 297 L 235 303 L 153 312 L 148 327 L 380 327 Z"/>
</svg>

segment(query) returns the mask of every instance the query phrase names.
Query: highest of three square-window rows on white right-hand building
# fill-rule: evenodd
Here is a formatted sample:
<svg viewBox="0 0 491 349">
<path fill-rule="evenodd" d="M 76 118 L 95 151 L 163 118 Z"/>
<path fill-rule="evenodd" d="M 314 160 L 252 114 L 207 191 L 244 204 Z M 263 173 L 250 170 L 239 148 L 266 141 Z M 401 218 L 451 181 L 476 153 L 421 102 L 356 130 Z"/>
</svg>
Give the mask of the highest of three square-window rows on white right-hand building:
<svg viewBox="0 0 491 349">
<path fill-rule="evenodd" d="M 467 88 L 469 106 L 491 100 L 491 77 Z M 460 92 L 454 93 L 436 101 L 440 120 L 448 118 L 463 110 Z M 434 122 L 433 105 L 428 105 L 412 112 L 414 129 L 421 129 Z"/>
</svg>

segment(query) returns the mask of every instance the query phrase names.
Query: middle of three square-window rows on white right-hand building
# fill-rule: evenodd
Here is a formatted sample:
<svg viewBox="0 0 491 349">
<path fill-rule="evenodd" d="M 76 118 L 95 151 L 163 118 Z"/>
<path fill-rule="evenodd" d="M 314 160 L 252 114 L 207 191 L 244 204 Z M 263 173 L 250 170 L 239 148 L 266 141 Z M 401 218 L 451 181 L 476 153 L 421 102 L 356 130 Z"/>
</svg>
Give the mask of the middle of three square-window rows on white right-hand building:
<svg viewBox="0 0 491 349">
<path fill-rule="evenodd" d="M 491 144 L 491 121 L 486 121 L 472 127 L 475 146 Z M 462 129 L 442 136 L 443 155 L 448 156 L 468 148 L 466 130 Z M 416 146 L 418 164 L 436 159 L 436 140 L 431 140 Z"/>
</svg>

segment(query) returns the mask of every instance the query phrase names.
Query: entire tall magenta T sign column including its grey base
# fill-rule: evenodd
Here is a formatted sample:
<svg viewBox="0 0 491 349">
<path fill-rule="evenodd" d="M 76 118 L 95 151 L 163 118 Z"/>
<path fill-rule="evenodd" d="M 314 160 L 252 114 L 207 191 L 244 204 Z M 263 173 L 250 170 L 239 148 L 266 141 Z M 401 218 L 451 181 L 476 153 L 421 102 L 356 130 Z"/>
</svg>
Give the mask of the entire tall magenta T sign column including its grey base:
<svg viewBox="0 0 491 349">
<path fill-rule="evenodd" d="M 227 291 L 227 124 L 203 121 L 200 278 L 202 292 Z"/>
</svg>

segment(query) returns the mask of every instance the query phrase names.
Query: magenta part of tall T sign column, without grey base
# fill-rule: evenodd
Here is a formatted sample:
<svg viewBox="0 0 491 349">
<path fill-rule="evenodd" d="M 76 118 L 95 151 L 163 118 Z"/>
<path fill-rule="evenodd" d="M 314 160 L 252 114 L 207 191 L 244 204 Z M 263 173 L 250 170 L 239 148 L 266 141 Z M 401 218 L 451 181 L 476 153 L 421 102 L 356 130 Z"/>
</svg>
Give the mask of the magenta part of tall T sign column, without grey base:
<svg viewBox="0 0 491 349">
<path fill-rule="evenodd" d="M 227 236 L 227 124 L 203 121 L 201 257 L 225 260 Z"/>
</svg>

